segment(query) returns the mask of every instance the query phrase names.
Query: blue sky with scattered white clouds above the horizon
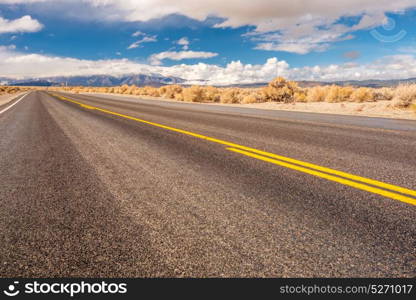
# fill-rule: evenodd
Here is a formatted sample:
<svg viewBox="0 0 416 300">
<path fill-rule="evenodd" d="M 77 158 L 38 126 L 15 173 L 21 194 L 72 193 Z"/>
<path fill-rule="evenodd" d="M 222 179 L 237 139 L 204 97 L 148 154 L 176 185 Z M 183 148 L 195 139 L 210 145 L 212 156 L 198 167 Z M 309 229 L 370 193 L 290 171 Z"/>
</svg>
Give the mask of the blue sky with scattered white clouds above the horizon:
<svg viewBox="0 0 416 300">
<path fill-rule="evenodd" d="M 0 0 L 0 77 L 416 77 L 416 1 L 197 2 Z"/>
</svg>

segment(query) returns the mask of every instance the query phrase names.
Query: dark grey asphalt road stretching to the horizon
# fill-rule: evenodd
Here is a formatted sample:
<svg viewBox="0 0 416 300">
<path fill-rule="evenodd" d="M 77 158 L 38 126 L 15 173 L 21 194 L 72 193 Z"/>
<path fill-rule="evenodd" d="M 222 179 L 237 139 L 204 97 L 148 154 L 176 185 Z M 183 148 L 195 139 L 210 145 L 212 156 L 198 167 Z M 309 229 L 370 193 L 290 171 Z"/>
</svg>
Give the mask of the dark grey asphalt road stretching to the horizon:
<svg viewBox="0 0 416 300">
<path fill-rule="evenodd" d="M 0 107 L 0 276 L 416 276 L 416 122 L 60 95 Z"/>
</svg>

